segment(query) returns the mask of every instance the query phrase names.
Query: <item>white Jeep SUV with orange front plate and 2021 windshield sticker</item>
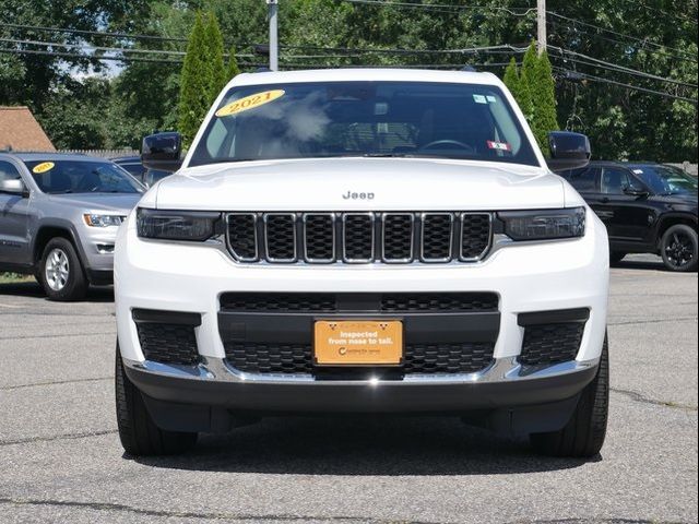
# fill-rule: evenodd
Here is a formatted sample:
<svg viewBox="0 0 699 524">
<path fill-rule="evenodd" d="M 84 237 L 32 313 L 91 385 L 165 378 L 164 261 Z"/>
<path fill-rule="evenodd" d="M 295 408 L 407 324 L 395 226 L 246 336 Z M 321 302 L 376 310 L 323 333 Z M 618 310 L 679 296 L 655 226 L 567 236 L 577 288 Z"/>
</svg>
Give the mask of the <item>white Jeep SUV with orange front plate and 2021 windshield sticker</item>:
<svg viewBox="0 0 699 524">
<path fill-rule="evenodd" d="M 117 415 L 133 455 L 276 414 L 445 414 L 591 456 L 608 245 L 494 75 L 240 74 L 120 228 Z"/>
</svg>

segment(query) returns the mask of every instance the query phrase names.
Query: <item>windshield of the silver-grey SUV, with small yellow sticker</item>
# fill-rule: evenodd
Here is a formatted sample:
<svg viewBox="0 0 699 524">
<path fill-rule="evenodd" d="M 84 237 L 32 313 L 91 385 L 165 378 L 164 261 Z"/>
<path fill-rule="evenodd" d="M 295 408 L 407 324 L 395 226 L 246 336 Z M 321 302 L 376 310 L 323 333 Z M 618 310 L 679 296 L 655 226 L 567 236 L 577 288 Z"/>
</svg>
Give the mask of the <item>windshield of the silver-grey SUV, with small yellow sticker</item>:
<svg viewBox="0 0 699 524">
<path fill-rule="evenodd" d="M 62 193 L 142 193 L 143 187 L 116 164 L 104 160 L 25 162 L 42 191 Z"/>
</svg>

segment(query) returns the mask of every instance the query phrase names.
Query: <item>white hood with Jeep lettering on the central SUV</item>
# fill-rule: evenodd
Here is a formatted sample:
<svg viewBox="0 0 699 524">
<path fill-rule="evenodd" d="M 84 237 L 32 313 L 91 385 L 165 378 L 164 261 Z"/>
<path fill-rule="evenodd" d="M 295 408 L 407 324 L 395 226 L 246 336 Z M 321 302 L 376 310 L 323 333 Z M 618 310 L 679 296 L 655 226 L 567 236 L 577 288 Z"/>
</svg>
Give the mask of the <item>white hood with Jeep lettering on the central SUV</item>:
<svg viewBox="0 0 699 524">
<path fill-rule="evenodd" d="M 144 205 L 216 211 L 550 209 L 569 194 L 540 167 L 422 158 L 213 164 L 181 169 L 154 191 Z"/>
</svg>

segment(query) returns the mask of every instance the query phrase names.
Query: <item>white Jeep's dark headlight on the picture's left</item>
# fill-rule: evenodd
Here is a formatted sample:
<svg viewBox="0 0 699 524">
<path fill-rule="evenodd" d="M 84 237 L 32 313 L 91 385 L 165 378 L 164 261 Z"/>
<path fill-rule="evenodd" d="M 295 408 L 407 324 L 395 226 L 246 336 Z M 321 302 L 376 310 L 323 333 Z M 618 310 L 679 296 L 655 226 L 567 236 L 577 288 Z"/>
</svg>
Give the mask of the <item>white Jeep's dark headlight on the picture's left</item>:
<svg viewBox="0 0 699 524">
<path fill-rule="evenodd" d="M 139 237 L 165 240 L 203 241 L 216 233 L 221 213 L 139 209 Z"/>
</svg>

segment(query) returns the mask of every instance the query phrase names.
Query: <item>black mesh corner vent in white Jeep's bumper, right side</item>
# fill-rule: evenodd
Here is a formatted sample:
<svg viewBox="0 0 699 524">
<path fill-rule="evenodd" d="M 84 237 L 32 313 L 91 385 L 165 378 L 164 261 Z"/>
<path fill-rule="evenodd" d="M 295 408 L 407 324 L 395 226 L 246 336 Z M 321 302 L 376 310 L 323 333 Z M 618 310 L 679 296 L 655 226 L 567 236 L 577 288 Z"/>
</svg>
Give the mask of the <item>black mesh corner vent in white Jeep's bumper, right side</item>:
<svg viewBox="0 0 699 524">
<path fill-rule="evenodd" d="M 582 322 L 528 325 L 519 361 L 535 366 L 574 360 L 584 327 Z"/>
</svg>

